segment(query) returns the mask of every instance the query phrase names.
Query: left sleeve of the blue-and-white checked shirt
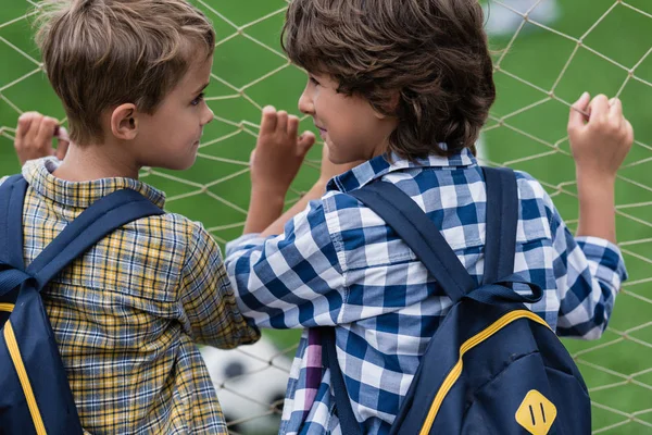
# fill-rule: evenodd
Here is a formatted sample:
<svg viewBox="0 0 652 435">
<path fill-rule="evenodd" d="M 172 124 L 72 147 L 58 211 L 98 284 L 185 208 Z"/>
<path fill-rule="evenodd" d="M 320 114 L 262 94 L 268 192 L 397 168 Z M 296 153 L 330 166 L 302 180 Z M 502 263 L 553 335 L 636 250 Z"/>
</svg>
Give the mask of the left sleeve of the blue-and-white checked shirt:
<svg viewBox="0 0 652 435">
<path fill-rule="evenodd" d="M 321 200 L 288 222 L 284 234 L 242 236 L 227 245 L 226 253 L 238 304 L 258 326 L 338 323 L 347 290 Z"/>
</svg>

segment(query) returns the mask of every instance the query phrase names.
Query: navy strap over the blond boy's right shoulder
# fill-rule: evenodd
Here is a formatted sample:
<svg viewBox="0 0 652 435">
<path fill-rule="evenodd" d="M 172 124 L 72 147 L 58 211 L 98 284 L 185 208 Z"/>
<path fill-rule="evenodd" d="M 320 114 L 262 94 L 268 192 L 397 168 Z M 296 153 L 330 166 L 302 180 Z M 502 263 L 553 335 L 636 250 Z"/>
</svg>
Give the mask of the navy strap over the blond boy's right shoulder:
<svg viewBox="0 0 652 435">
<path fill-rule="evenodd" d="M 93 202 L 70 223 L 29 264 L 27 273 L 36 278 L 40 291 L 54 275 L 114 229 L 163 213 L 136 190 L 116 190 Z"/>
</svg>

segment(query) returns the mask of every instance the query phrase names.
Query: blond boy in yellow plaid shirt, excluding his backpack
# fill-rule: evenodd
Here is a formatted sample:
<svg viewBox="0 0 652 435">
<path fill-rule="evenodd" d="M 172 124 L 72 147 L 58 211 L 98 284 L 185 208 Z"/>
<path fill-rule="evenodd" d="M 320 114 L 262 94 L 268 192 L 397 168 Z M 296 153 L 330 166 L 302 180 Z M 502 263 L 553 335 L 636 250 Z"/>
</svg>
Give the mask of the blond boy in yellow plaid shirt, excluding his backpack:
<svg viewBox="0 0 652 435">
<path fill-rule="evenodd" d="M 203 90 L 215 33 L 187 1 L 47 0 L 38 23 L 72 141 L 61 162 L 23 169 L 27 264 L 116 189 L 162 208 L 163 194 L 138 181 L 140 170 L 190 167 L 213 120 Z M 16 149 L 48 148 L 54 126 L 23 114 Z M 238 311 L 220 249 L 199 224 L 164 214 L 125 225 L 57 276 L 43 301 L 84 428 L 226 433 L 193 343 L 233 348 L 260 334 Z"/>
</svg>

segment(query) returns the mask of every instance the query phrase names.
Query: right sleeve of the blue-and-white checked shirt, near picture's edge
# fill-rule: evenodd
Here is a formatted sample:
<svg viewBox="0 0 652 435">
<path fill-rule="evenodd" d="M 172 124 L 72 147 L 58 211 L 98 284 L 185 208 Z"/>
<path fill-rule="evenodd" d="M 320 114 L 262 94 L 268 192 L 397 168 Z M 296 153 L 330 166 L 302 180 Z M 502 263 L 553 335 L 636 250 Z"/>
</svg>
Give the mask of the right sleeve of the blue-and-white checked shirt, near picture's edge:
<svg viewBox="0 0 652 435">
<path fill-rule="evenodd" d="M 627 271 L 620 250 L 598 237 L 574 237 L 547 197 L 551 216 L 553 270 L 560 295 L 556 333 L 599 338 L 611 316 Z"/>
</svg>

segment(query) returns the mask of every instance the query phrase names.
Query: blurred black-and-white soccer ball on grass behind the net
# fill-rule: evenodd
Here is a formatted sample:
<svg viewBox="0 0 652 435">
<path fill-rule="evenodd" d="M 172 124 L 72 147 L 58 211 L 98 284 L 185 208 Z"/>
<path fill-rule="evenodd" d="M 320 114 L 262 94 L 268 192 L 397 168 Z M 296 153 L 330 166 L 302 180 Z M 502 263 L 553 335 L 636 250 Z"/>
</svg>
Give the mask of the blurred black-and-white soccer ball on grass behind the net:
<svg viewBox="0 0 652 435">
<path fill-rule="evenodd" d="M 235 350 L 205 346 L 201 355 L 226 421 L 237 422 L 229 432 L 278 433 L 291 360 L 264 337 Z"/>
</svg>

